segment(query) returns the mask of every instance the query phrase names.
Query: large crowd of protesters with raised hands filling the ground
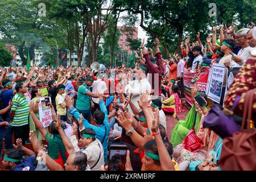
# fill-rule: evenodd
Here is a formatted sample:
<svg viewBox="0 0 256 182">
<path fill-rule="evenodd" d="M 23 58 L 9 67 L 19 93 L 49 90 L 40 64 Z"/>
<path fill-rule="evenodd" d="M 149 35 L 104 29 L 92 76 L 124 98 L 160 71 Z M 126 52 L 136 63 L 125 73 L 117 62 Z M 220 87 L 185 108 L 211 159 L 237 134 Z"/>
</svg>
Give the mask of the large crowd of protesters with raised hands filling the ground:
<svg viewBox="0 0 256 182">
<path fill-rule="evenodd" d="M 135 68 L 125 64 L 103 69 L 34 65 L 28 72 L 26 66 L 0 68 L 3 168 L 104 171 L 108 170 L 110 146 L 122 144 L 127 146 L 127 171 L 222 170 L 225 138 L 205 127 L 204 120 L 213 104 L 242 120 L 246 93 L 256 86 L 256 27 L 253 24 L 235 32 L 232 23 L 214 27 L 205 46 L 200 32 L 196 39 L 192 43 L 185 38 L 181 51 L 167 59 L 162 57 L 158 39 L 155 53 L 144 47 L 143 40 L 141 55 L 134 51 Z M 185 112 L 184 71 L 197 73 L 213 63 L 224 64 L 226 71 L 241 68 L 229 89 L 224 76 L 220 103 L 210 103 L 207 94 L 199 92 L 197 82 L 192 82 L 193 105 L 185 120 L 167 133 L 166 115 L 177 118 Z M 251 130 L 256 121 L 255 95 L 251 98 Z M 200 106 L 196 96 L 207 105 Z M 39 105 L 47 97 L 52 122 L 44 127 Z"/>
</svg>

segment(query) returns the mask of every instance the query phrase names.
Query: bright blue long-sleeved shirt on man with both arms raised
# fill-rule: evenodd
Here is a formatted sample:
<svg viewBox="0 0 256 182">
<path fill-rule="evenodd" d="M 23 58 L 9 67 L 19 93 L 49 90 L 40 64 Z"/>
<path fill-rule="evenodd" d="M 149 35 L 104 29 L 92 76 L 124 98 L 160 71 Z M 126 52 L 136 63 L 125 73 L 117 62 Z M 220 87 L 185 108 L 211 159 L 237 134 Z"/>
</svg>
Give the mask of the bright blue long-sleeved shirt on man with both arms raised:
<svg viewBox="0 0 256 182">
<path fill-rule="evenodd" d="M 105 114 L 103 125 L 98 125 L 98 126 L 91 125 L 88 123 L 88 121 L 85 118 L 83 119 L 82 123 L 84 124 L 85 128 L 93 129 L 96 132 L 96 138 L 98 138 L 98 140 L 101 141 L 102 146 L 104 148 L 104 161 L 106 164 L 107 159 L 108 159 L 108 138 L 109 138 L 109 131 L 110 131 L 109 117 L 108 117 L 108 111 L 106 109 L 104 101 L 101 99 L 98 104 L 100 105 L 101 111 L 104 112 L 104 114 Z M 71 107 L 68 110 L 68 113 L 72 114 L 73 117 L 75 117 L 77 121 L 79 119 L 81 119 L 80 113 L 79 113 L 79 111 L 76 110 L 75 107 Z M 104 137 L 105 137 L 105 139 L 104 139 Z M 104 140 L 104 141 L 102 142 L 102 140 Z"/>
</svg>

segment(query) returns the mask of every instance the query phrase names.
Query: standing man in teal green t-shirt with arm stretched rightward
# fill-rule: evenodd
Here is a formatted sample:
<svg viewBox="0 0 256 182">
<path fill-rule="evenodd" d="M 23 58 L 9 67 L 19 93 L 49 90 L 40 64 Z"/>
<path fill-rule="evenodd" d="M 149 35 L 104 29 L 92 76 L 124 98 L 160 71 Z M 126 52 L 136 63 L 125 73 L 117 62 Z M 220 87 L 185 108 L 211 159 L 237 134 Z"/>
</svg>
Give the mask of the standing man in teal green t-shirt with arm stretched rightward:
<svg viewBox="0 0 256 182">
<path fill-rule="evenodd" d="M 76 109 L 89 123 L 92 115 L 90 97 L 98 98 L 99 95 L 98 93 L 90 92 L 90 86 L 92 86 L 93 81 L 92 76 L 86 77 L 85 82 L 77 90 Z"/>
</svg>

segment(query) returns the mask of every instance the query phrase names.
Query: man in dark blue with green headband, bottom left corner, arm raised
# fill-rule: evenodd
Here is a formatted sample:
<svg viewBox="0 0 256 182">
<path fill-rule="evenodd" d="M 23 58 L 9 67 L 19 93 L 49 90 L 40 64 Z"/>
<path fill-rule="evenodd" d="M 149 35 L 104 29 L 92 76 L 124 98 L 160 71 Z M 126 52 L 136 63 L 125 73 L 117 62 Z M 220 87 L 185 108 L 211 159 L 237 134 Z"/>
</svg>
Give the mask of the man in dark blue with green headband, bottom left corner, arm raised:
<svg viewBox="0 0 256 182">
<path fill-rule="evenodd" d="M 3 167 L 10 171 L 34 171 L 35 152 L 22 145 L 22 139 L 16 140 L 17 145 L 13 149 L 5 151 Z M 22 160 L 23 153 L 28 158 Z"/>
</svg>

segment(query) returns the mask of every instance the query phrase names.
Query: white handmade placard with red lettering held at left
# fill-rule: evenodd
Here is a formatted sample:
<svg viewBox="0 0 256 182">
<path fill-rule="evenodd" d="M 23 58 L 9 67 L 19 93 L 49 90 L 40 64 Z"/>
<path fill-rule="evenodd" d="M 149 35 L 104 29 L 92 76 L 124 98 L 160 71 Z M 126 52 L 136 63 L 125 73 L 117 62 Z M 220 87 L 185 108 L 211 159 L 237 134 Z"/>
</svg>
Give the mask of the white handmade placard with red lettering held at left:
<svg viewBox="0 0 256 182">
<path fill-rule="evenodd" d="M 51 101 L 51 97 L 48 97 Z M 52 111 L 50 106 L 46 106 L 46 100 L 44 97 L 40 98 L 39 102 L 39 120 L 42 123 L 43 127 L 47 127 L 52 122 Z"/>
</svg>

